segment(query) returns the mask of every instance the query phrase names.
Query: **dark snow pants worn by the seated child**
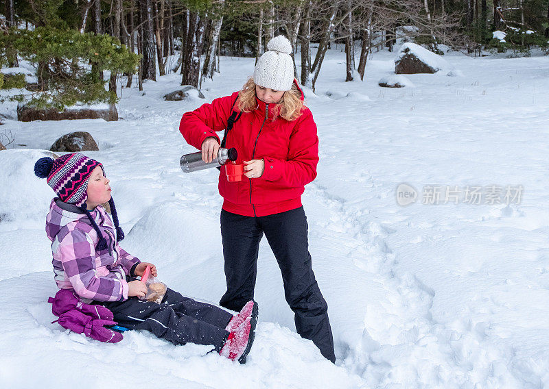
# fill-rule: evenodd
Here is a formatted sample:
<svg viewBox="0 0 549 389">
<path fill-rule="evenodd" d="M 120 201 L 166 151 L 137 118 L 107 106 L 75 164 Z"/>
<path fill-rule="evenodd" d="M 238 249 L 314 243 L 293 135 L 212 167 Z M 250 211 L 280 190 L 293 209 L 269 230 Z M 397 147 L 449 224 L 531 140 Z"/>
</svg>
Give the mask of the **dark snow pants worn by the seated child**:
<svg viewBox="0 0 549 389">
<path fill-rule="evenodd" d="M 134 279 L 128 277 L 128 281 Z M 146 329 L 174 344 L 211 344 L 220 351 L 229 332 L 225 327 L 232 314 L 200 303 L 167 289 L 162 303 L 130 297 L 126 301 L 102 303 L 113 312 L 115 321 L 128 329 Z"/>
</svg>

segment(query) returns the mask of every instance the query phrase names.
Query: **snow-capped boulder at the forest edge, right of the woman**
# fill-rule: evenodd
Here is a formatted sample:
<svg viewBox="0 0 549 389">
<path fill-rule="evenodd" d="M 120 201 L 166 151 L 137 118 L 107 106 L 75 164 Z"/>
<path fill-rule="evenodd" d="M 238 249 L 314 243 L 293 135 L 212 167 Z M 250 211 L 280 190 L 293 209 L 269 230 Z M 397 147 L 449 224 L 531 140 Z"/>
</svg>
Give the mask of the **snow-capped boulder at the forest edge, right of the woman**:
<svg viewBox="0 0 549 389">
<path fill-rule="evenodd" d="M 440 55 L 429 51 L 415 43 L 402 45 L 398 57 L 395 59 L 395 73 L 448 73 L 454 66 L 449 64 Z"/>
</svg>

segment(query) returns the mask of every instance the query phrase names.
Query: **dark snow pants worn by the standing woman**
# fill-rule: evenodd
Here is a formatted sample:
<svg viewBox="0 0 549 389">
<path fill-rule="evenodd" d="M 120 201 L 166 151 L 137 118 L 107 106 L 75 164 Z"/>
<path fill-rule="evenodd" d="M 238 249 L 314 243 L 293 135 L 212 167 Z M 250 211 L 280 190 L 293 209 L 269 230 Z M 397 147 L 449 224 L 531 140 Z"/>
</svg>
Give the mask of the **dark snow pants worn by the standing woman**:
<svg viewBox="0 0 549 389">
<path fill-rule="evenodd" d="M 303 207 L 259 217 L 221 210 L 227 291 L 220 305 L 238 312 L 253 299 L 259 241 L 265 234 L 282 273 L 297 333 L 312 340 L 327 360 L 335 362 L 328 305 L 312 270 L 307 229 Z"/>
</svg>

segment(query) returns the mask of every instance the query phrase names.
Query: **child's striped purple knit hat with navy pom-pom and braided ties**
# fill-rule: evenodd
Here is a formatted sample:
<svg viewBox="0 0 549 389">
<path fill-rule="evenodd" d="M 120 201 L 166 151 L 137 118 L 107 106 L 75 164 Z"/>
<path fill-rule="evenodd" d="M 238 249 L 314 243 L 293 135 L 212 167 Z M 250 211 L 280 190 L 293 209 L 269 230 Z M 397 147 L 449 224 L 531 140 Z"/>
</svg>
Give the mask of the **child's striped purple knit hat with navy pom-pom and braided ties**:
<svg viewBox="0 0 549 389">
<path fill-rule="evenodd" d="M 37 177 L 45 178 L 47 184 L 56 192 L 61 201 L 76 205 L 82 213 L 88 216 L 93 229 L 95 229 L 97 236 L 100 238 L 99 242 L 97 242 L 97 249 L 104 250 L 108 247 L 106 240 L 87 209 L 86 204 L 86 200 L 88 199 L 88 181 L 91 172 L 97 166 L 100 166 L 103 174 L 105 174 L 105 169 L 100 162 L 80 153 L 72 153 L 62 155 L 56 160 L 49 157 L 40 158 L 34 164 L 34 174 Z M 108 205 L 110 205 L 110 212 L 113 215 L 117 231 L 117 241 L 122 240 L 124 239 L 124 231 L 118 225 L 115 201 L 112 197 L 108 201 Z"/>
</svg>

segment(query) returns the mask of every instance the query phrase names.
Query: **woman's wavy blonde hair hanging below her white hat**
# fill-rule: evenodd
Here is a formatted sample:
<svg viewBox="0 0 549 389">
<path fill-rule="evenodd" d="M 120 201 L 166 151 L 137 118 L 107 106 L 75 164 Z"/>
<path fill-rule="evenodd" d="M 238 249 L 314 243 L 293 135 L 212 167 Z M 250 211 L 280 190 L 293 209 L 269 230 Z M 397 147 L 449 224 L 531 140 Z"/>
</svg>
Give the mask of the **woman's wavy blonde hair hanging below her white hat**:
<svg viewBox="0 0 549 389">
<path fill-rule="evenodd" d="M 250 78 L 246 81 L 242 90 L 238 92 L 238 108 L 242 112 L 252 112 L 256 107 L 255 82 L 253 81 L 253 78 Z M 305 108 L 305 104 L 303 104 L 303 100 L 301 100 L 301 92 L 296 84 L 292 84 L 292 89 L 284 92 L 281 101 L 275 105 L 273 109 L 273 120 L 278 116 L 281 116 L 287 121 L 294 121 L 303 114 L 303 108 Z"/>
</svg>

